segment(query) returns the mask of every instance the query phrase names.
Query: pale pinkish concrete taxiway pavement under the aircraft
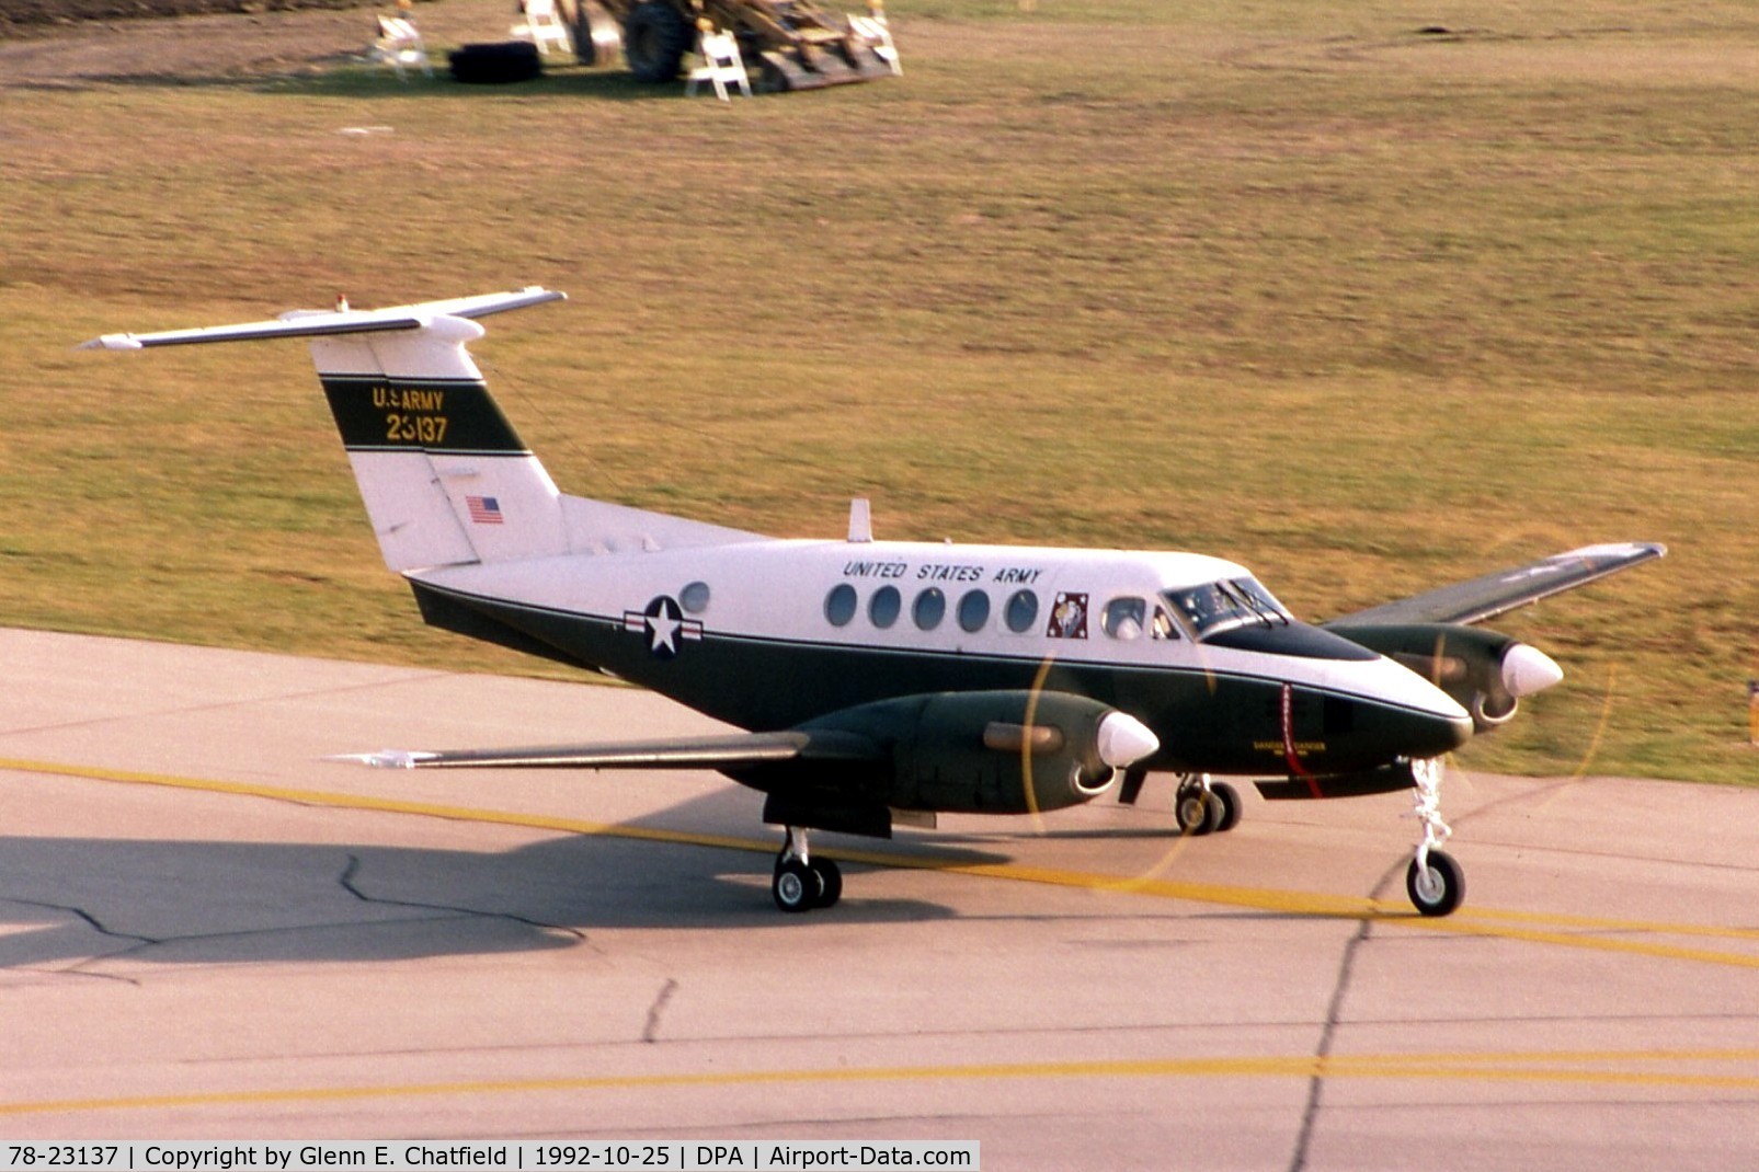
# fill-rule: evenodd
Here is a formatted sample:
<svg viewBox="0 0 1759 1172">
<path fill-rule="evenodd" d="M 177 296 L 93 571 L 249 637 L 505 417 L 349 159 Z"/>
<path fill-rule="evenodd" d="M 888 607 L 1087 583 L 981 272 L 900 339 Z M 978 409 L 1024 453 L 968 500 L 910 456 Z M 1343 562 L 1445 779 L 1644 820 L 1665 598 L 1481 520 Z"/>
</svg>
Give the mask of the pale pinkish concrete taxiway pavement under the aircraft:
<svg viewBox="0 0 1759 1172">
<path fill-rule="evenodd" d="M 0 629 L 0 1137 L 976 1139 L 1015 1168 L 1759 1158 L 1759 792 L 1451 770 L 1171 833 L 779 835 L 712 773 L 329 754 L 688 734 L 654 696 Z"/>
</svg>

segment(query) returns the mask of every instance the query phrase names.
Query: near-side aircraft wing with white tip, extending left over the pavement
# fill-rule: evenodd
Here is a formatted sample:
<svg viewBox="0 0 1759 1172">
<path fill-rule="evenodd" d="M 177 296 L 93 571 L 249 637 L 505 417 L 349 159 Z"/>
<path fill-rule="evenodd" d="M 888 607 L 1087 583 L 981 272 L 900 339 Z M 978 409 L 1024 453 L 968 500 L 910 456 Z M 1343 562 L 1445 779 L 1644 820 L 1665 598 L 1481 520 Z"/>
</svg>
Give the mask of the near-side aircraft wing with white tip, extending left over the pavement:
<svg viewBox="0 0 1759 1172">
<path fill-rule="evenodd" d="M 531 749 L 387 749 L 350 754 L 385 770 L 737 770 L 776 761 L 883 761 L 874 742 L 841 731 L 730 733 L 661 742 L 536 745 Z"/>
</svg>

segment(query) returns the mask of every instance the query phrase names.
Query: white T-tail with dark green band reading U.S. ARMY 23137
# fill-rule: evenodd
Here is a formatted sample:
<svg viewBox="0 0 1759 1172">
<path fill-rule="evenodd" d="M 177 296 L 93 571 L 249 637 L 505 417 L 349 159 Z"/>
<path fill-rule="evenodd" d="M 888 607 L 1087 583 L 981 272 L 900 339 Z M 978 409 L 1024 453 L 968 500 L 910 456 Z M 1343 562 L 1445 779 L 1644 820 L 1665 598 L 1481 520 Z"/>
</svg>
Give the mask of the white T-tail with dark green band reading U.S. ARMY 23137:
<svg viewBox="0 0 1759 1172">
<path fill-rule="evenodd" d="M 86 348 L 308 339 L 378 548 L 398 573 L 749 539 L 558 492 L 468 350 L 484 336 L 477 318 L 551 300 L 563 293 L 529 286 L 390 309 L 296 309 L 273 322 L 106 334 Z"/>
</svg>

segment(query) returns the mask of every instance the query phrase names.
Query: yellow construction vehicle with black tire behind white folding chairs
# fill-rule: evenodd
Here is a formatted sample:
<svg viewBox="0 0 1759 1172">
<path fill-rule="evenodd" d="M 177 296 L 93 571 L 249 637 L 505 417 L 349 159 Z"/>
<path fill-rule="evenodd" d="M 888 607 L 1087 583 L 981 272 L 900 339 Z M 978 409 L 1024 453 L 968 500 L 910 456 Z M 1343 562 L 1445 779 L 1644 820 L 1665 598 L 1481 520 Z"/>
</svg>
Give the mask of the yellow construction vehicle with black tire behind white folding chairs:
<svg viewBox="0 0 1759 1172">
<path fill-rule="evenodd" d="M 869 0 L 872 16 L 851 19 L 814 0 L 558 0 L 558 9 L 586 65 L 621 56 L 637 81 L 672 81 L 698 30 L 723 28 L 748 69 L 756 67 L 758 88 L 777 91 L 901 72 L 881 2 Z"/>
</svg>

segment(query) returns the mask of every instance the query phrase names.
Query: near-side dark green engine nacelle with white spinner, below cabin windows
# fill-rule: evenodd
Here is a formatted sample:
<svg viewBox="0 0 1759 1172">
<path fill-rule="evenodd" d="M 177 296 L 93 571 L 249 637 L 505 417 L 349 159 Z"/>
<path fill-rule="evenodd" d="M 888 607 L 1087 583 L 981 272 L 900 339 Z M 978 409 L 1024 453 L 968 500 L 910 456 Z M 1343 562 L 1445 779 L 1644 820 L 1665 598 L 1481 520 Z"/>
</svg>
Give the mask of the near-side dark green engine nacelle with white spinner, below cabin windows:
<svg viewBox="0 0 1759 1172">
<path fill-rule="evenodd" d="M 934 692 L 821 717 L 806 729 L 890 749 L 885 805 L 955 814 L 1061 810 L 1159 749 L 1135 717 L 1066 692 Z"/>
</svg>

